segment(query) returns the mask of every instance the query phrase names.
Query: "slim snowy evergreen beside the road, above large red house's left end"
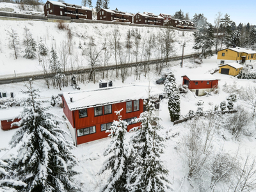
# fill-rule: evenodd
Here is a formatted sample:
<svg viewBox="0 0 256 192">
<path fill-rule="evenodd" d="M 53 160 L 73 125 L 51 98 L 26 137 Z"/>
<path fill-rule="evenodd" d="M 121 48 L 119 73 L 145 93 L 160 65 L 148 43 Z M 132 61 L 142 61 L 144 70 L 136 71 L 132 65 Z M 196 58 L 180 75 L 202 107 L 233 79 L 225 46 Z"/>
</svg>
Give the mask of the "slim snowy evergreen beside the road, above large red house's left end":
<svg viewBox="0 0 256 192">
<path fill-rule="evenodd" d="M 61 79 L 65 77 L 63 74 L 63 68 L 61 67 L 58 55 L 56 51 L 53 49 L 51 50 L 51 59 L 49 68 L 51 69 L 52 73 L 54 74 L 53 79 L 57 82 L 60 90 L 61 90 Z"/>
</svg>

